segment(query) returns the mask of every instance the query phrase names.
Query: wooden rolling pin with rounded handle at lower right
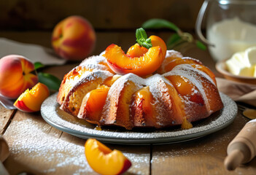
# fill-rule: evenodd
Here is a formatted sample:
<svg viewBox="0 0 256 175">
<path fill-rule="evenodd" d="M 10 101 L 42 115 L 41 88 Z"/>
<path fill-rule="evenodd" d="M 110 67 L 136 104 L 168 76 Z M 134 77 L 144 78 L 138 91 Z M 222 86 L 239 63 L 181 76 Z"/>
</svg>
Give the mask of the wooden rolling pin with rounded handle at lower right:
<svg viewBox="0 0 256 175">
<path fill-rule="evenodd" d="M 228 144 L 228 156 L 224 160 L 226 169 L 234 170 L 241 163 L 248 163 L 256 155 L 256 119 L 249 121 Z"/>
</svg>

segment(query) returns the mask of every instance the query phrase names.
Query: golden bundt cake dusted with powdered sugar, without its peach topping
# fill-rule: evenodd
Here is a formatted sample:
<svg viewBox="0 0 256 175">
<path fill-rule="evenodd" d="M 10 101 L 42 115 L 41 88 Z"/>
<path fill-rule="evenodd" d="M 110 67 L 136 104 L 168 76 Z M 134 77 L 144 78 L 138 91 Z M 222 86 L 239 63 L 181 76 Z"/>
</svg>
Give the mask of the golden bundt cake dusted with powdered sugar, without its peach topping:
<svg viewBox="0 0 256 175">
<path fill-rule="evenodd" d="M 57 101 L 89 123 L 128 130 L 187 128 L 223 107 L 212 71 L 174 50 L 167 50 L 158 70 L 145 77 L 115 74 L 102 55 L 87 58 L 63 77 Z"/>
</svg>

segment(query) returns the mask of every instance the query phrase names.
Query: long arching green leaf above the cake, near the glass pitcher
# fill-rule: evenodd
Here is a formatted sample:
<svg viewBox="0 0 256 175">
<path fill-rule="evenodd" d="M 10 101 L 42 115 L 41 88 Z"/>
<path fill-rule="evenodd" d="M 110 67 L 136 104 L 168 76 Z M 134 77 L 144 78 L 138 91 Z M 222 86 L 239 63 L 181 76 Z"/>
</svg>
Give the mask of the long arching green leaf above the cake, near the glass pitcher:
<svg viewBox="0 0 256 175">
<path fill-rule="evenodd" d="M 157 18 L 147 20 L 145 23 L 142 24 L 142 28 L 170 28 L 174 31 L 180 31 L 174 23 L 171 23 L 168 20 Z"/>
</svg>

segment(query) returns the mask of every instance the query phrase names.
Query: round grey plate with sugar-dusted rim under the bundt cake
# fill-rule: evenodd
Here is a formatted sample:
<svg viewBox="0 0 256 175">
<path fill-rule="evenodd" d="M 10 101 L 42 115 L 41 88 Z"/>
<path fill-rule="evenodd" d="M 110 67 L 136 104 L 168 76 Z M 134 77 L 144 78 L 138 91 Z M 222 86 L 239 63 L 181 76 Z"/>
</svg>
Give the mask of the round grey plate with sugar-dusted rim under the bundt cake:
<svg viewBox="0 0 256 175">
<path fill-rule="evenodd" d="M 136 128 L 127 131 L 120 127 L 101 127 L 101 131 L 96 130 L 96 125 L 92 125 L 85 120 L 73 117 L 59 109 L 56 102 L 57 93 L 48 97 L 41 107 L 44 120 L 53 127 L 77 136 L 82 139 L 96 138 L 99 141 L 115 144 L 167 144 L 187 141 L 206 136 L 210 133 L 220 131 L 230 125 L 236 118 L 236 103 L 223 93 L 220 93 L 224 108 L 215 112 L 210 117 L 193 123 L 193 128 L 182 130 L 180 126 L 165 129 Z"/>
</svg>

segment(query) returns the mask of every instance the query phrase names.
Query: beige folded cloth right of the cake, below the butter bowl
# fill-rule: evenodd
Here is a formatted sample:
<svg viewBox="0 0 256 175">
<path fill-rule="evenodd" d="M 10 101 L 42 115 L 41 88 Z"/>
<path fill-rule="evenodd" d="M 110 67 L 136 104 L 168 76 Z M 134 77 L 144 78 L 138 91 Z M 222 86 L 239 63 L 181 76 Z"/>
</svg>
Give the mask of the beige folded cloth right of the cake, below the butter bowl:
<svg viewBox="0 0 256 175">
<path fill-rule="evenodd" d="M 256 85 L 234 82 L 222 78 L 216 79 L 220 92 L 230 96 L 234 101 L 241 101 L 256 106 Z"/>
</svg>

